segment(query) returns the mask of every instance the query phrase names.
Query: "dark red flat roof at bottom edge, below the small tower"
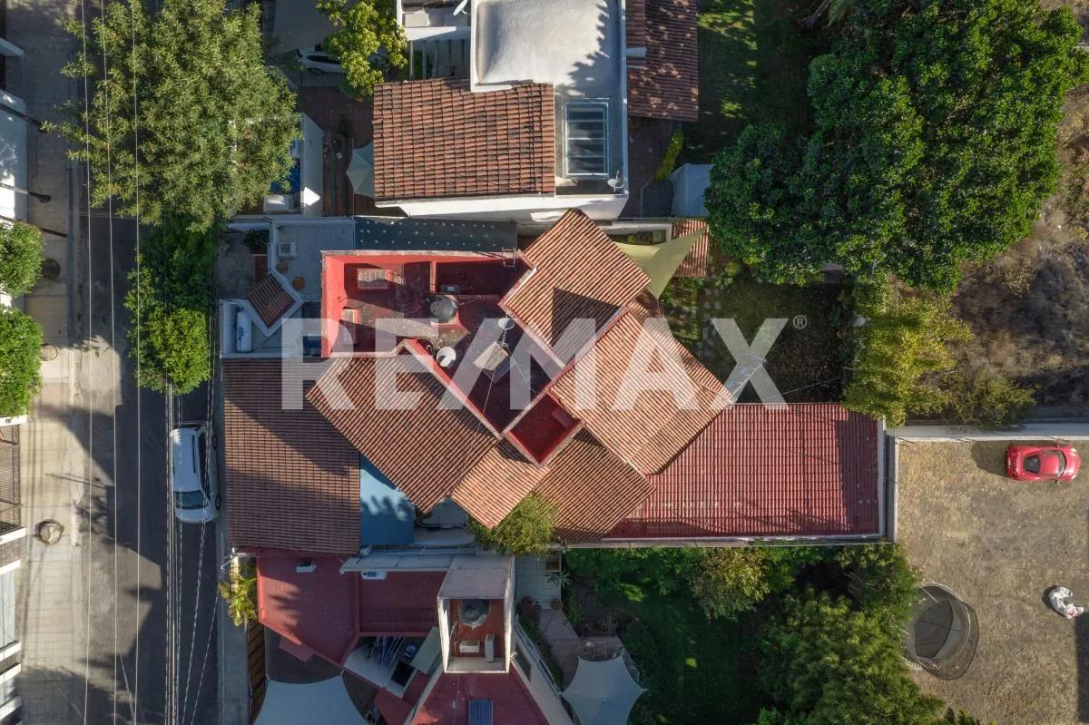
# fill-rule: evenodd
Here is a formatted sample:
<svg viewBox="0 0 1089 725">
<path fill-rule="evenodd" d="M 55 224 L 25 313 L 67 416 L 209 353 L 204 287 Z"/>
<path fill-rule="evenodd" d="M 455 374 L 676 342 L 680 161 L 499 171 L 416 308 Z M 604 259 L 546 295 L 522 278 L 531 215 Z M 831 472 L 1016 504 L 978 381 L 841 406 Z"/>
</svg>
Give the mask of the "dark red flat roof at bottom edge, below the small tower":
<svg viewBox="0 0 1089 725">
<path fill-rule="evenodd" d="M 441 675 L 412 725 L 465 725 L 469 700 L 491 700 L 493 723 L 548 725 L 513 668 L 505 675 Z"/>
</svg>

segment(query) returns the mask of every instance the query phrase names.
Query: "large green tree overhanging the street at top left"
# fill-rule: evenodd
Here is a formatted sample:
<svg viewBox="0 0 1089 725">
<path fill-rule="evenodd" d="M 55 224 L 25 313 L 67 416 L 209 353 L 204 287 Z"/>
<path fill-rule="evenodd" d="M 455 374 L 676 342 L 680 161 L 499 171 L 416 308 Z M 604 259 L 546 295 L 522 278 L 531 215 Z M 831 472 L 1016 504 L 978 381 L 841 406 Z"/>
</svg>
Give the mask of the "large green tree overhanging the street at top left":
<svg viewBox="0 0 1089 725">
<path fill-rule="evenodd" d="M 286 177 L 295 98 L 265 66 L 256 3 L 160 4 L 152 15 L 143 0 L 114 1 L 91 24 L 86 52 L 64 67 L 95 78 L 90 111 L 72 106 L 73 120 L 58 127 L 71 157 L 90 164 L 96 206 L 113 198 L 115 211 L 134 216 L 138 198 L 145 223 L 184 217 L 207 230 Z M 68 27 L 81 36 L 78 21 Z"/>
</svg>

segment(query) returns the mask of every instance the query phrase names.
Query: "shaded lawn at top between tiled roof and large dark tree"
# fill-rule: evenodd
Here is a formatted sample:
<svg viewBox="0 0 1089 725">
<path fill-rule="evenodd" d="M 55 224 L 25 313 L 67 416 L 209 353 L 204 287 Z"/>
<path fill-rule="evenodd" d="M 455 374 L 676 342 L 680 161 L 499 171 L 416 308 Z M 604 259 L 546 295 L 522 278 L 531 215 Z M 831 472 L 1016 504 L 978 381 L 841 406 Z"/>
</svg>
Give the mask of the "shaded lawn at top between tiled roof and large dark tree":
<svg viewBox="0 0 1089 725">
<path fill-rule="evenodd" d="M 816 0 L 700 3 L 699 121 L 685 126 L 681 163 L 710 163 L 748 123 L 775 123 L 792 134 L 806 128 L 806 74 L 821 33 L 803 30 L 798 20 L 816 4 Z"/>
</svg>

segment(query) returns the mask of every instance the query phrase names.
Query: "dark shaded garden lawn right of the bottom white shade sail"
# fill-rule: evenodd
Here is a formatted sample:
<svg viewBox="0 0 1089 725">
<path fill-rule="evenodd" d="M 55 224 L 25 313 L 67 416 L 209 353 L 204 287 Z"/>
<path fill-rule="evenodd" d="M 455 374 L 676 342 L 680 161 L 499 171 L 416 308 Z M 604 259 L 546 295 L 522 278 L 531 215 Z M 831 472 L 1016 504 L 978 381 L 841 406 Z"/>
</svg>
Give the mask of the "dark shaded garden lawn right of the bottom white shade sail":
<svg viewBox="0 0 1089 725">
<path fill-rule="evenodd" d="M 624 587 L 604 595 L 643 686 L 632 725 L 750 723 L 767 704 L 756 683 L 756 615 L 710 620 L 684 594 L 663 597 Z"/>
</svg>

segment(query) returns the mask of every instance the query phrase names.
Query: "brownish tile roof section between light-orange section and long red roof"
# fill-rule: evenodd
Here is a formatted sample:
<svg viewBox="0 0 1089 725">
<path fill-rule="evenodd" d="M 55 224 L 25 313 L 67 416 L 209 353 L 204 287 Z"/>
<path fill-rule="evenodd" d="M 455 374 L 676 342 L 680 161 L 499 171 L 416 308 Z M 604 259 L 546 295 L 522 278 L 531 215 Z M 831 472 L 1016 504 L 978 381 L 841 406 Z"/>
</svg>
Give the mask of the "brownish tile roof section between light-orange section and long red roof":
<svg viewBox="0 0 1089 725">
<path fill-rule="evenodd" d="M 601 538 L 653 491 L 637 470 L 582 431 L 553 459 L 536 492 L 556 509 L 567 541 Z"/>
</svg>

